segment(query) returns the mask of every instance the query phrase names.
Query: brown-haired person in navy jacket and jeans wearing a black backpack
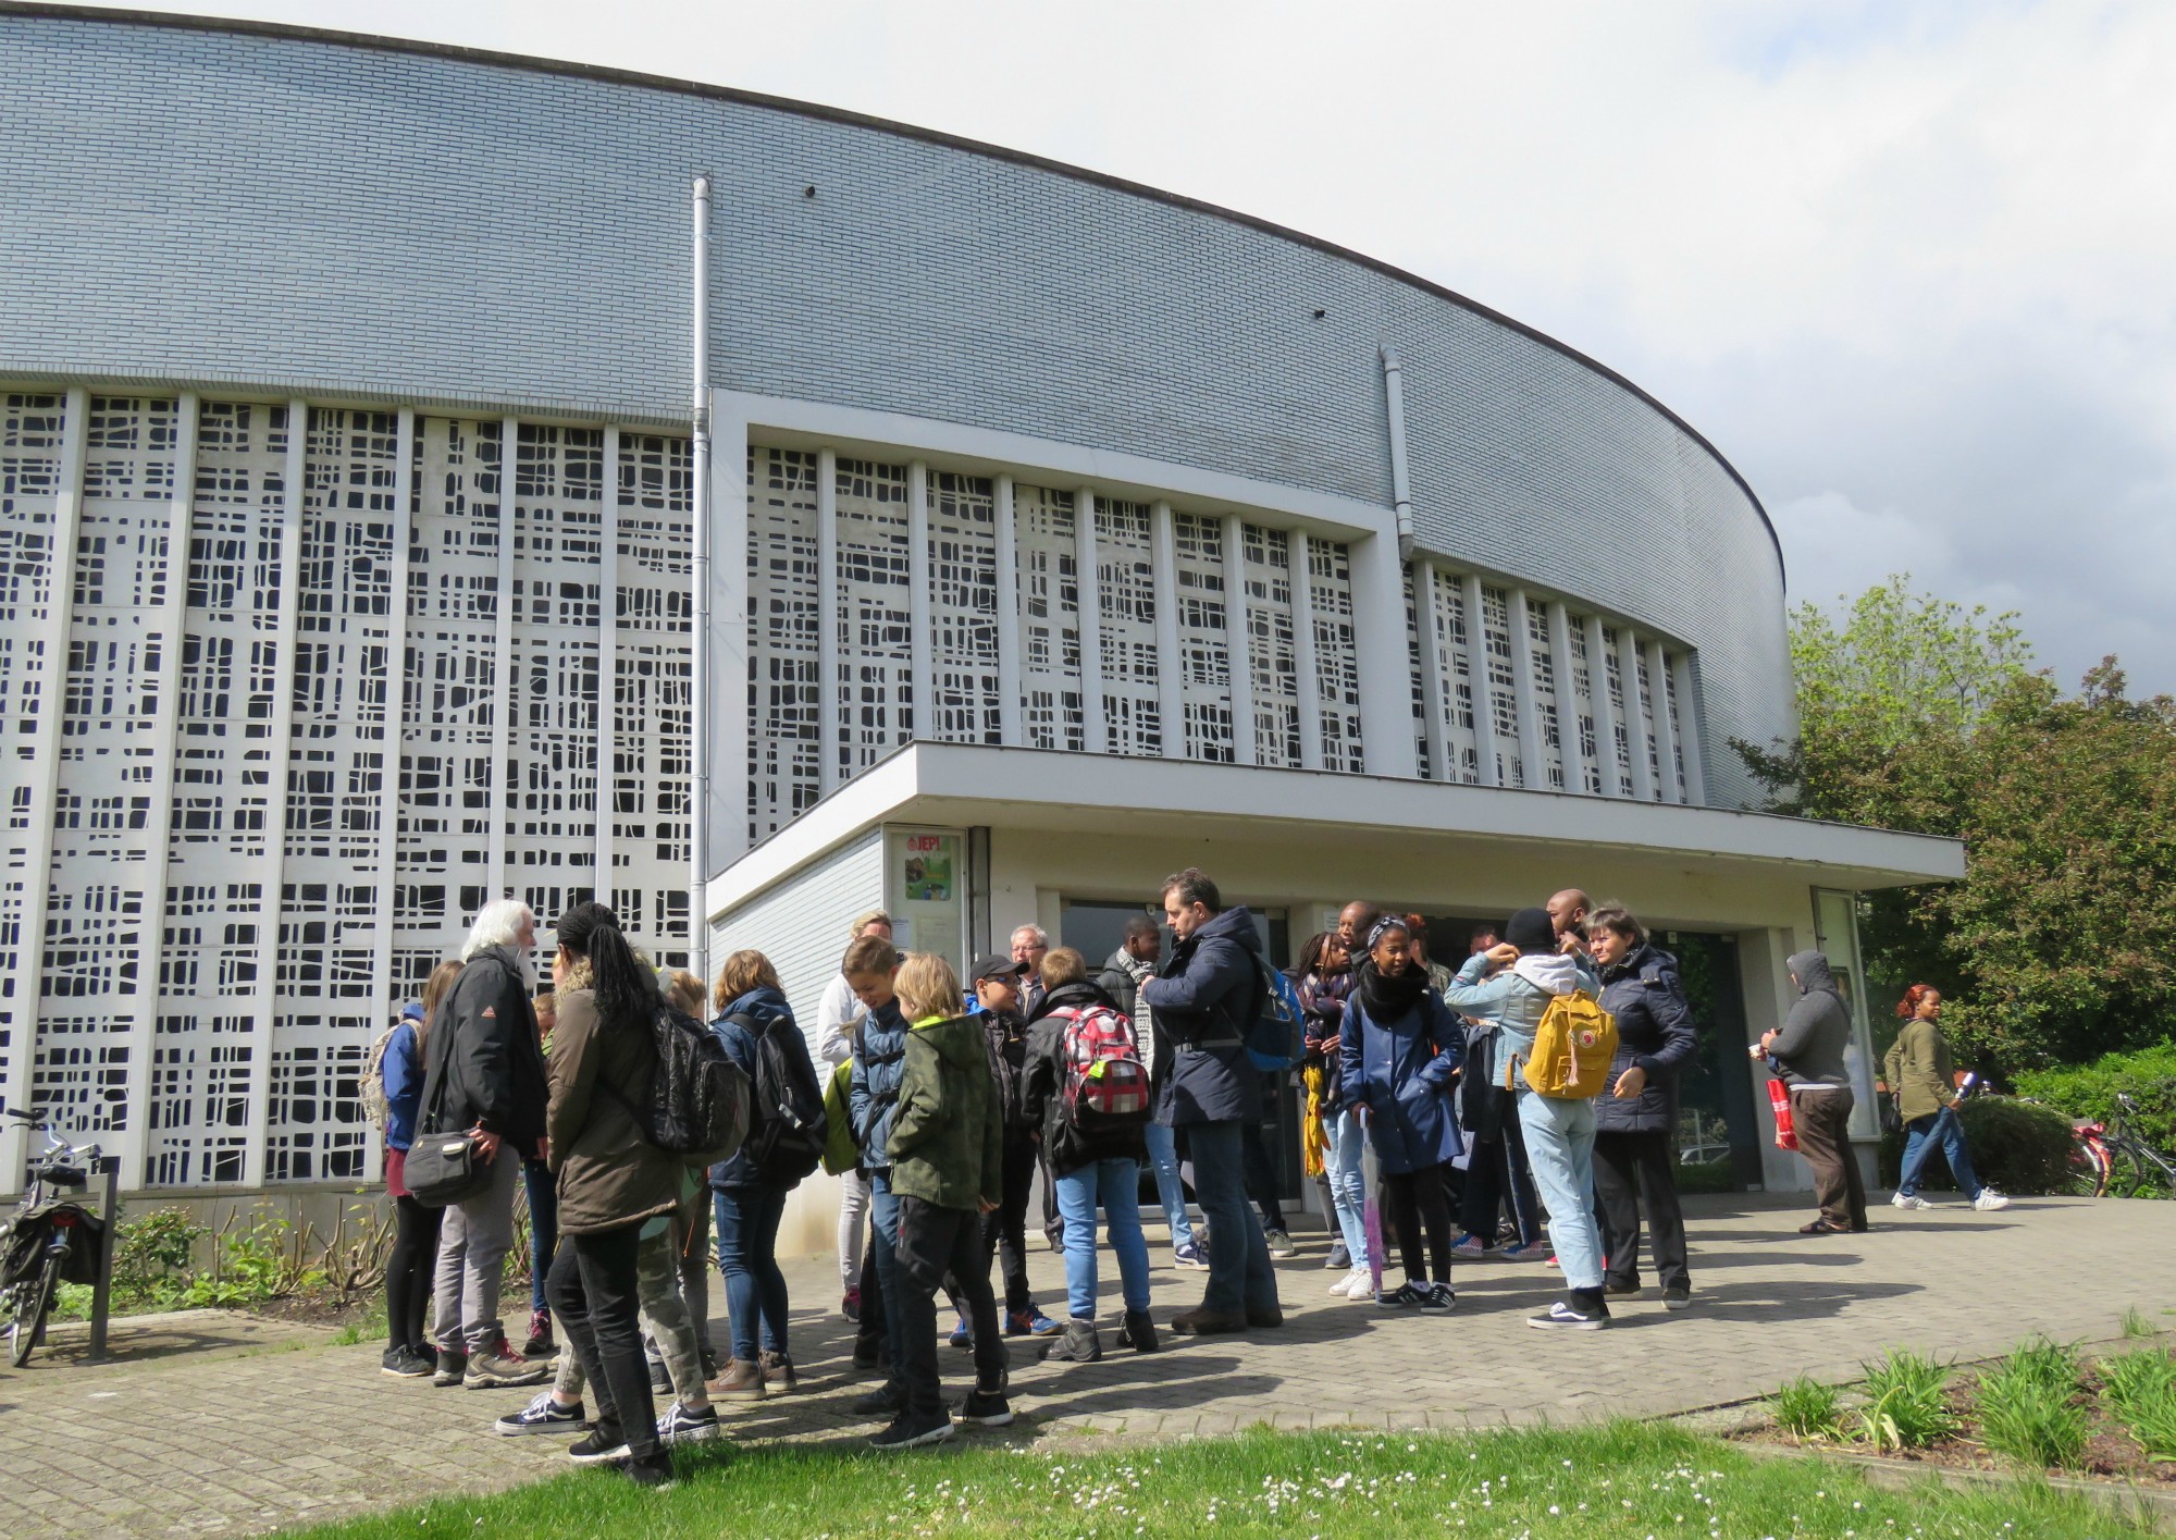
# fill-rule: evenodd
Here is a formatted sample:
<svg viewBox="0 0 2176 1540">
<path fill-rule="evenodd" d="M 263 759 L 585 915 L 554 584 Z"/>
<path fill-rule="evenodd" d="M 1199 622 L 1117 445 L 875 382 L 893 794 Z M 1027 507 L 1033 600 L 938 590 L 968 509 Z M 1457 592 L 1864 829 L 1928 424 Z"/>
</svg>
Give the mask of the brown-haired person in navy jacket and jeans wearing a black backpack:
<svg viewBox="0 0 2176 1540">
<path fill-rule="evenodd" d="M 794 1388 L 779 1220 L 786 1194 L 823 1159 L 827 1125 L 807 1038 L 794 1024 L 770 959 L 755 951 L 727 957 L 716 1007 L 712 1031 L 753 1090 L 746 1142 L 733 1159 L 709 1168 L 718 1270 L 733 1327 L 733 1359 L 712 1381 L 712 1392 L 727 1401 L 762 1401 Z"/>
</svg>

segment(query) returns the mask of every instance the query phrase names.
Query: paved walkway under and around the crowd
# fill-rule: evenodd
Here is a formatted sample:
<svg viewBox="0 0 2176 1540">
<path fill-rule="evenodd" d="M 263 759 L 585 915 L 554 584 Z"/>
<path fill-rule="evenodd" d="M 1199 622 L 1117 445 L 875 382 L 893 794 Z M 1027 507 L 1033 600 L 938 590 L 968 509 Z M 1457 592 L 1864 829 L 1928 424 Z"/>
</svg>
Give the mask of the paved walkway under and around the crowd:
<svg viewBox="0 0 2176 1540">
<path fill-rule="evenodd" d="M 1667 1314 L 1649 1286 L 1649 1296 L 1619 1301 L 1615 1331 L 1528 1331 L 1523 1318 L 1556 1275 L 1475 1262 L 1454 1279 L 1456 1316 L 1386 1318 L 1323 1292 L 1316 1235 L 1279 1264 L 1282 1331 L 1166 1338 L 1153 1357 L 1116 1351 L 1084 1366 L 1042 1366 L 1016 1344 L 1023 1418 L 1007 1433 L 1660 1416 L 1758 1396 L 1800 1373 L 1843 1379 L 1889 1344 L 1971 1359 L 2035 1331 L 2100 1340 L 2128 1305 L 2176 1327 L 2176 1203 L 2019 1199 L 2004 1214 L 1884 1205 L 1874 1233 L 1826 1240 L 1791 1233 L 1810 1212 L 1802 1201 L 1693 1199 L 1689 1209 L 1695 1307 L 1684 1314 Z M 1055 1307 L 1058 1259 L 1031 1262 L 1038 1299 Z M 849 1327 L 827 1314 L 838 1272 L 809 1259 L 788 1279 L 803 1392 L 725 1412 L 729 1438 L 853 1442 L 875 1429 L 844 1412 L 857 1381 Z M 1108 1251 L 1103 1283 L 1116 1312 Z M 1199 1292 L 1201 1275 L 1158 1266 L 1158 1320 Z M 242 1536 L 376 1507 L 390 1490 L 487 1490 L 564 1468 L 559 1440 L 490 1433 L 527 1392 L 387 1379 L 379 1346 L 196 1312 L 118 1325 L 111 1364 L 83 1364 L 81 1344 L 63 1340 L 24 1370 L 0 1370 L 7 1531 Z M 947 1359 L 962 1390 L 966 1355 Z"/>
</svg>

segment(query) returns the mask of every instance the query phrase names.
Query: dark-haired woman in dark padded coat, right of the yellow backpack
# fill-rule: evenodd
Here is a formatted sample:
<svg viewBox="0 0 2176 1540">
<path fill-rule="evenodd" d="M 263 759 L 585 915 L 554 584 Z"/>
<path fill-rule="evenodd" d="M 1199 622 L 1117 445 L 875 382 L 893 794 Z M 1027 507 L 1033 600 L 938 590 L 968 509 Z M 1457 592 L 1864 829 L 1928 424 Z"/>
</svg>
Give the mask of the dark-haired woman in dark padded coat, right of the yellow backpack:
<svg viewBox="0 0 2176 1540">
<path fill-rule="evenodd" d="M 1684 1212 L 1669 1170 L 1678 1135 L 1678 1077 L 1693 1059 L 1693 1009 L 1684 1003 L 1678 959 L 1647 944 L 1623 905 L 1586 916 L 1586 944 L 1602 970 L 1602 1009 L 1617 1018 L 1610 1092 L 1595 1103 L 1595 1203 L 1602 1209 L 1604 1292 L 1639 1292 L 1639 1222 L 1647 1209 L 1647 1251 L 1662 1281 L 1662 1303 L 1693 1303 L 1684 1259 Z"/>
</svg>

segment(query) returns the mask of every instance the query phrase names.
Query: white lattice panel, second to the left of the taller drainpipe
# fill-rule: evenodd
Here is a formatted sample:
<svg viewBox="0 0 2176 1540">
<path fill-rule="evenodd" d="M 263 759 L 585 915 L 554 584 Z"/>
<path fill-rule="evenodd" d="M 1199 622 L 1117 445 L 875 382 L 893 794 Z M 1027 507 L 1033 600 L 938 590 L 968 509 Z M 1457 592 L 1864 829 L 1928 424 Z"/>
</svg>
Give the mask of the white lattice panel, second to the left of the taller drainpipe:
<svg viewBox="0 0 2176 1540">
<path fill-rule="evenodd" d="M 596 713 L 605 583 L 605 435 L 514 435 L 514 659 L 503 885 L 553 922 L 596 894 Z M 616 552 L 614 552 L 616 555 Z"/>
</svg>

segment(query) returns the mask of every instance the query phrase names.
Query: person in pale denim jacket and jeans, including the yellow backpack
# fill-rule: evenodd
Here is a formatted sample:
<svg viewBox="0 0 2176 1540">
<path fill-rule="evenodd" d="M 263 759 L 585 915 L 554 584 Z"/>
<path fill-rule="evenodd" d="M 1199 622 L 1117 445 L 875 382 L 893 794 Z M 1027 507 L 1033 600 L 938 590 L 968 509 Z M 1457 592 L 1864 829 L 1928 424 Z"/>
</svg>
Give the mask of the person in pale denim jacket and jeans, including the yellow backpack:
<svg viewBox="0 0 2176 1540">
<path fill-rule="evenodd" d="M 1567 953 L 1547 909 L 1521 909 L 1504 942 L 1467 959 L 1443 992 L 1454 1011 L 1497 1022 L 1495 1083 L 1517 1092 L 1534 1185 L 1565 1296 L 1525 1325 L 1602 1331 L 1602 1229 L 1595 1225 L 1595 1096 L 1608 1090 L 1617 1024 L 1582 953 Z"/>
</svg>

